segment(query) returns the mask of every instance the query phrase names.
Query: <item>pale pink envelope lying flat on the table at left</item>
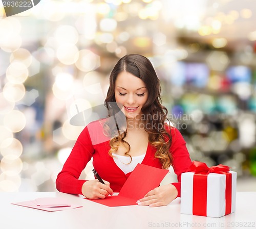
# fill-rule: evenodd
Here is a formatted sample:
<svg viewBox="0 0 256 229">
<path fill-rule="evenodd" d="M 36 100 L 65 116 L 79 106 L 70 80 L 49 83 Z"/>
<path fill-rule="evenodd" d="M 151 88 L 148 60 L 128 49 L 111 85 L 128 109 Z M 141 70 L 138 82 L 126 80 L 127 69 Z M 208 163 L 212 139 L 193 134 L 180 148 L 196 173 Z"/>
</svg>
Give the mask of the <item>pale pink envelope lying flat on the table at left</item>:
<svg viewBox="0 0 256 229">
<path fill-rule="evenodd" d="M 23 201 L 12 203 L 13 205 L 34 208 L 39 210 L 44 210 L 48 212 L 61 211 L 67 209 L 79 208 L 82 206 L 72 205 L 67 199 L 59 197 L 44 197 L 37 198 L 30 201 Z"/>
</svg>

